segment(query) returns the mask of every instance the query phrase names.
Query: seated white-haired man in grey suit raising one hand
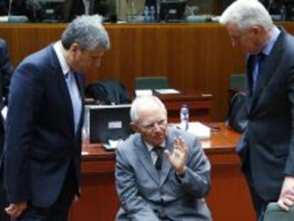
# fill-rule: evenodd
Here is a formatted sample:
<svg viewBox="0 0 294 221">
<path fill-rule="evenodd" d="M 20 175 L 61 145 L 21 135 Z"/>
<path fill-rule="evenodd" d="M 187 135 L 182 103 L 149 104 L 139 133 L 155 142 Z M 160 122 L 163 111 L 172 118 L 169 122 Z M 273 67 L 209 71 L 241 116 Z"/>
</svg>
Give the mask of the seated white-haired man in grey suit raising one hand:
<svg viewBox="0 0 294 221">
<path fill-rule="evenodd" d="M 116 150 L 116 220 L 212 220 L 204 199 L 210 164 L 197 138 L 168 126 L 154 96 L 134 100 L 131 128 L 136 133 Z"/>
</svg>

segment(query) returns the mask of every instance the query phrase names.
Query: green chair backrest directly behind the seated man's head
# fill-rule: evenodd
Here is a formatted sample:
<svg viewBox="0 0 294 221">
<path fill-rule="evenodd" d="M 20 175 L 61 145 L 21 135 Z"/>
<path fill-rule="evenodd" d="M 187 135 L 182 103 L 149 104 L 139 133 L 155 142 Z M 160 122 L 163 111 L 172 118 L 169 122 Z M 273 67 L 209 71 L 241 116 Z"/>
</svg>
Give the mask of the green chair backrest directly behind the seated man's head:
<svg viewBox="0 0 294 221">
<path fill-rule="evenodd" d="M 136 77 L 135 89 L 136 90 L 156 90 L 156 89 L 168 89 L 168 78 L 165 76 L 160 77 Z"/>
</svg>

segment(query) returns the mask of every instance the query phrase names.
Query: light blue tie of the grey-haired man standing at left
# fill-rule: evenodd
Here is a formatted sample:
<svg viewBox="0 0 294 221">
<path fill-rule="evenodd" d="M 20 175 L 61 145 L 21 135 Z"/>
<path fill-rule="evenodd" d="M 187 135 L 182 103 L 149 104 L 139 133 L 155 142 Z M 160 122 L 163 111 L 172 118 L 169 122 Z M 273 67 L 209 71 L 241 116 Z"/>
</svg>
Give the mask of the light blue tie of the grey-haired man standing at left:
<svg viewBox="0 0 294 221">
<path fill-rule="evenodd" d="M 65 81 L 68 91 L 70 92 L 70 99 L 72 101 L 72 109 L 75 120 L 75 133 L 77 132 L 77 126 L 80 122 L 80 116 L 82 111 L 82 101 L 79 91 L 77 90 L 77 84 L 75 83 L 75 76 L 72 72 L 67 72 L 65 75 Z"/>
</svg>

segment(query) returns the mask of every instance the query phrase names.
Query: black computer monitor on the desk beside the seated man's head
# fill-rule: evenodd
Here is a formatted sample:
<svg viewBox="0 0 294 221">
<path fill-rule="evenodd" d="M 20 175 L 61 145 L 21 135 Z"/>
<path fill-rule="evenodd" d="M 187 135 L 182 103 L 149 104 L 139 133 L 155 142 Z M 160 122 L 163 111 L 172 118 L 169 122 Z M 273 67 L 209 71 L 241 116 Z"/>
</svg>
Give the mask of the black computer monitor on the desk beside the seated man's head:
<svg viewBox="0 0 294 221">
<path fill-rule="evenodd" d="M 89 142 L 107 144 L 109 139 L 126 139 L 131 134 L 130 109 L 130 104 L 86 105 Z"/>
</svg>

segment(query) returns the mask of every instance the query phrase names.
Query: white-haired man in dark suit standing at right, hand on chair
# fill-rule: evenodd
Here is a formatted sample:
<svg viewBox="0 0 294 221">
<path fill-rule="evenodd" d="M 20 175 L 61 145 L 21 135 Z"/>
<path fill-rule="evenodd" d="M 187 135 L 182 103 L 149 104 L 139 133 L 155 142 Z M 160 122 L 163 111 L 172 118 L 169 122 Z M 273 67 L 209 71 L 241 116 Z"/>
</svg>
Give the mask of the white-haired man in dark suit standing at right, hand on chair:
<svg viewBox="0 0 294 221">
<path fill-rule="evenodd" d="M 238 0 L 220 18 L 247 54 L 248 126 L 236 148 L 258 220 L 271 201 L 294 203 L 294 38 L 256 0 Z"/>
</svg>

